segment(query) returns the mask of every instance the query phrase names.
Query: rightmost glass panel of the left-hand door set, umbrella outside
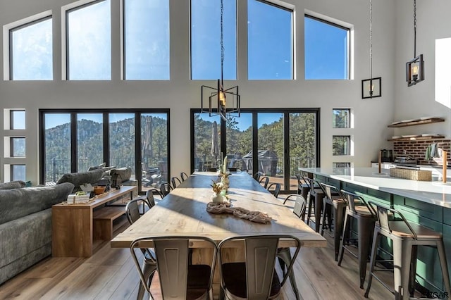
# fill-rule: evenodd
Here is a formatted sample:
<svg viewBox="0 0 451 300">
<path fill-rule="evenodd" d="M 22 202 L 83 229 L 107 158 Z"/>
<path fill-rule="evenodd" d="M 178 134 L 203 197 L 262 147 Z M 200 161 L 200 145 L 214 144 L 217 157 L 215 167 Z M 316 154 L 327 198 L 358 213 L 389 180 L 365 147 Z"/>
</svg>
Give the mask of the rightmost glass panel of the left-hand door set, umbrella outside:
<svg viewBox="0 0 451 300">
<path fill-rule="evenodd" d="M 141 114 L 142 190 L 168 182 L 168 115 Z"/>
</svg>

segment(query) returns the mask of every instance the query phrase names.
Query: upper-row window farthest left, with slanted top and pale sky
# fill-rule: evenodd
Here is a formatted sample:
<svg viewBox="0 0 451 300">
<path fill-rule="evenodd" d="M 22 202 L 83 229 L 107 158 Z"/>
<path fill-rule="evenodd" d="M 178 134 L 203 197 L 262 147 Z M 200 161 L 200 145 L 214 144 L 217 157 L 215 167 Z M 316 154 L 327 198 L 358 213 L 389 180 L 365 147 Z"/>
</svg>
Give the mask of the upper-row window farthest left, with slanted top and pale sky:
<svg viewBox="0 0 451 300">
<path fill-rule="evenodd" d="M 9 30 L 10 80 L 53 80 L 51 16 Z"/>
</svg>

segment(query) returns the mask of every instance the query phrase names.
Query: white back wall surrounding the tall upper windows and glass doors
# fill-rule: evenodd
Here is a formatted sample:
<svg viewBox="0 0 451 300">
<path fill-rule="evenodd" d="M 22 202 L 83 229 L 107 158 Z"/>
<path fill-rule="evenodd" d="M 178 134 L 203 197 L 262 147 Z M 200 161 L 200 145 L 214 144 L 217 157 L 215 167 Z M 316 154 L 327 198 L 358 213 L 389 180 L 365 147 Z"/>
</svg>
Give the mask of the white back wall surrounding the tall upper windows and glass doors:
<svg viewBox="0 0 451 300">
<path fill-rule="evenodd" d="M 430 1 L 444 3 L 447 0 Z M 156 82 L 120 79 L 119 0 L 111 1 L 113 8 L 112 80 L 103 82 L 62 81 L 61 6 L 71 2 L 73 1 L 0 1 L 0 25 L 12 23 L 42 11 L 52 10 L 54 13 L 55 79 L 51 82 L 0 80 L 0 109 L 26 108 L 27 180 L 30 179 L 36 183 L 38 179 L 37 112 L 39 108 L 171 108 L 171 173 L 178 174 L 180 170 L 190 170 L 190 108 L 199 108 L 200 86 L 212 85 L 212 82 L 190 80 L 189 1 L 171 0 L 171 80 Z M 400 49 L 395 51 L 395 34 L 399 35 L 400 31 L 405 31 L 402 20 L 407 18 L 402 15 L 404 11 L 400 7 L 400 1 L 378 0 L 373 3 L 373 77 L 382 76 L 383 96 L 369 100 L 361 99 L 361 80 L 369 78 L 369 2 L 362 0 L 287 0 L 286 2 L 295 5 L 297 80 L 268 82 L 246 79 L 247 16 L 245 12 L 247 1 L 239 0 L 239 80 L 226 83 L 226 85 L 239 85 L 243 108 L 321 108 L 321 165 L 330 166 L 335 161 L 352 161 L 355 166 L 369 166 L 371 159 L 377 157 L 377 149 L 391 147 L 390 142 L 386 140 L 393 132 L 388 130 L 387 125 L 394 120 L 393 108 L 395 105 L 397 108 L 402 107 L 399 101 L 396 102 L 395 87 L 404 85 L 400 77 L 403 62 L 410 58 L 407 55 L 410 54 L 410 48 L 404 49 L 405 46 L 401 42 L 396 42 Z M 451 4 L 442 6 L 447 6 L 447 11 L 450 11 Z M 435 8 L 433 9 L 435 10 Z M 445 7 L 441 9 L 445 13 Z M 305 10 L 321 13 L 353 25 L 354 68 L 352 80 L 304 80 L 303 15 Z M 437 11 L 440 11 L 440 8 L 437 8 Z M 395 22 L 395 20 L 397 21 Z M 400 29 L 394 30 L 395 25 Z M 424 30 L 421 26 L 419 26 L 419 30 Z M 450 26 L 448 25 L 448 27 Z M 395 58 L 397 59 L 395 60 Z M 426 59 L 429 61 L 429 54 Z M 396 68 L 396 72 L 393 68 L 394 65 L 400 65 L 399 68 Z M 0 61 L 0 68 L 2 70 L 4 68 L 3 61 Z M 428 68 L 431 68 L 431 65 L 428 65 Z M 430 73 L 431 70 L 428 69 L 426 73 L 428 81 L 414 89 L 423 89 L 427 85 L 431 85 Z M 402 89 L 396 93 L 397 98 L 410 98 L 412 95 L 408 93 L 412 93 L 414 89 L 405 89 L 405 92 Z M 432 101 L 430 89 L 423 92 L 429 96 L 423 96 L 422 99 Z M 332 108 L 352 108 L 354 129 L 332 129 Z M 437 111 L 440 111 L 439 108 Z M 424 115 L 420 108 L 417 113 Z M 396 115 L 401 117 L 403 114 L 398 112 Z M 405 115 L 410 115 L 410 113 L 405 113 Z M 2 114 L 0 114 L 0 118 L 3 118 Z M 353 135 L 354 157 L 332 156 L 332 135 L 341 134 Z M 3 143 L 2 139 L 0 141 Z M 3 148 L 3 144 L 1 144 L 1 152 Z M 1 157 L 3 155 L 0 156 L 0 160 Z M 0 161 L 0 163 L 3 164 L 5 161 Z M 3 173 L 0 174 L 0 177 L 3 178 Z"/>
</svg>

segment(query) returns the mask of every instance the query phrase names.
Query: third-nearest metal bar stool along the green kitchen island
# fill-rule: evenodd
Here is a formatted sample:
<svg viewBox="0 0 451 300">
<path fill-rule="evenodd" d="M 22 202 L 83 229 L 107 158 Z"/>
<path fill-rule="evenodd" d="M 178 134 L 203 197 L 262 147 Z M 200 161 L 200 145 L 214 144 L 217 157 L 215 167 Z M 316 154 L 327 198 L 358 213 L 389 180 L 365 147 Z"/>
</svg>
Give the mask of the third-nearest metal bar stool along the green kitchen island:
<svg viewBox="0 0 451 300">
<path fill-rule="evenodd" d="M 326 224 L 326 211 L 330 208 L 333 210 L 333 244 L 335 249 L 335 261 L 338 261 L 338 252 L 340 251 L 340 238 L 343 229 L 343 217 L 345 215 L 346 201 L 342 199 L 338 189 L 333 185 L 326 185 L 321 182 L 326 196 L 323 198 L 323 216 L 321 221 L 321 235 L 324 235 L 324 225 Z M 330 214 L 328 225 L 330 228 Z"/>
</svg>

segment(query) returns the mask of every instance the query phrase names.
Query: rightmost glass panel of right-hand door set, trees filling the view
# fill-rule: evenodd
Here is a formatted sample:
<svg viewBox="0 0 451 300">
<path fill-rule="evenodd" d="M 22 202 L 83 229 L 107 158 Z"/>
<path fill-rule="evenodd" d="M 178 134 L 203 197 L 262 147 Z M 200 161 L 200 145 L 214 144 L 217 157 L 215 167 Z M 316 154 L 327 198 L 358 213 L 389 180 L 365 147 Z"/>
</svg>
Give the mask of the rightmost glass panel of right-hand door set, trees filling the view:
<svg viewBox="0 0 451 300">
<path fill-rule="evenodd" d="M 299 168 L 316 167 L 316 113 L 290 113 L 290 190 L 297 190 Z"/>
</svg>

